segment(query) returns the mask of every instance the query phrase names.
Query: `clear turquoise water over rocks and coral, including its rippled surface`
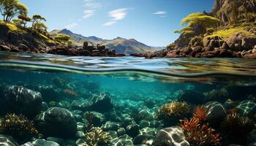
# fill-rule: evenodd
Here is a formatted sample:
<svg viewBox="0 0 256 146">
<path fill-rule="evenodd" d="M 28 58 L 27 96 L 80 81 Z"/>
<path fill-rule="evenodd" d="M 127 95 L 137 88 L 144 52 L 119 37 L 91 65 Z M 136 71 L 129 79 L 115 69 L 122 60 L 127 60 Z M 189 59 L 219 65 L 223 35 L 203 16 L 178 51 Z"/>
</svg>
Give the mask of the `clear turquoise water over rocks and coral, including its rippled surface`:
<svg viewBox="0 0 256 146">
<path fill-rule="evenodd" d="M 256 142 L 255 60 L 0 56 L 0 134 L 12 136 L 17 145 L 46 145 L 42 139 L 54 145 Z M 186 106 L 178 107 L 178 103 Z M 195 118 L 199 105 L 201 117 L 203 112 L 206 115 L 197 127 L 207 125 L 214 132 L 173 127 L 181 126 L 184 118 Z M 7 114 L 22 114 L 37 132 L 10 122 Z M 236 137 L 236 132 L 243 137 Z M 176 137 L 176 142 L 170 137 Z"/>
</svg>

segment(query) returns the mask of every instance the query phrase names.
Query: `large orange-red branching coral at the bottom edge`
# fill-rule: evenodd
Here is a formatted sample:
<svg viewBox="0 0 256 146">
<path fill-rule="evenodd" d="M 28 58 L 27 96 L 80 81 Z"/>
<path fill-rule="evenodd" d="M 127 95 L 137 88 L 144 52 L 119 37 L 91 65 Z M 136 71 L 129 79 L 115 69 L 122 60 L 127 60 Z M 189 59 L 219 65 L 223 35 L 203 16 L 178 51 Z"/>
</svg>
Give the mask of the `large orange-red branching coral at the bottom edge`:
<svg viewBox="0 0 256 146">
<path fill-rule="evenodd" d="M 181 120 L 181 128 L 187 132 L 187 140 L 191 146 L 220 145 L 221 137 L 208 124 L 200 126 L 199 119 Z"/>
</svg>

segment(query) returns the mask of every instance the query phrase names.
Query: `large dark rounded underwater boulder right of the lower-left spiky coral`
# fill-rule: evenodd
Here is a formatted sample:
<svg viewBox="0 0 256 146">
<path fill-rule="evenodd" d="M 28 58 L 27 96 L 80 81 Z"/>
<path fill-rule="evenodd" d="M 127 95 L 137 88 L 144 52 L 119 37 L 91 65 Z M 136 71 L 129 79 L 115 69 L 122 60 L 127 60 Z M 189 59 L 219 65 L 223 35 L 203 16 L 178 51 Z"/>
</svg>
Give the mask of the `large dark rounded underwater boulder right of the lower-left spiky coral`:
<svg viewBox="0 0 256 146">
<path fill-rule="evenodd" d="M 77 131 L 77 123 L 72 112 L 61 107 L 50 107 L 37 115 L 35 123 L 45 136 L 72 137 Z"/>
</svg>

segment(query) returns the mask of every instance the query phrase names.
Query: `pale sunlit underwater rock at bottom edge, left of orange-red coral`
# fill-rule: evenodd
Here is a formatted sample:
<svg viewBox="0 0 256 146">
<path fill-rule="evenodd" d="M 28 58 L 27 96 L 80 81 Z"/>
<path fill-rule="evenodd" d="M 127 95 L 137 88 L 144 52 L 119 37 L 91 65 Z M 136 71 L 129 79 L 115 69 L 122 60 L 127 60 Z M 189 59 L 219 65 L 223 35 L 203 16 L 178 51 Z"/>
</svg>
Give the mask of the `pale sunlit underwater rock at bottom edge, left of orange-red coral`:
<svg viewBox="0 0 256 146">
<path fill-rule="evenodd" d="M 163 128 L 157 132 L 154 139 L 154 146 L 176 146 L 176 145 L 189 145 L 184 134 L 184 130 L 180 126 L 172 126 L 170 128 Z"/>
</svg>

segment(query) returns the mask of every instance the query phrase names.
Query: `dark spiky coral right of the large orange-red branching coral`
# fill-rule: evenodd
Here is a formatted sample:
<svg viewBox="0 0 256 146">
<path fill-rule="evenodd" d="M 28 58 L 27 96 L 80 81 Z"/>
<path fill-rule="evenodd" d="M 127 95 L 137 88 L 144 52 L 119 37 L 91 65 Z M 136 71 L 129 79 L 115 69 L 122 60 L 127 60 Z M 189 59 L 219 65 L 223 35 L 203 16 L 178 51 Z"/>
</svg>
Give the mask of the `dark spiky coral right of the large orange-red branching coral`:
<svg viewBox="0 0 256 146">
<path fill-rule="evenodd" d="M 254 122 L 247 117 L 233 112 L 227 115 L 222 122 L 222 131 L 227 134 L 230 142 L 243 145 L 246 142 L 249 133 L 254 128 Z"/>
</svg>

